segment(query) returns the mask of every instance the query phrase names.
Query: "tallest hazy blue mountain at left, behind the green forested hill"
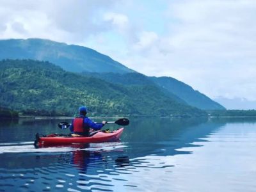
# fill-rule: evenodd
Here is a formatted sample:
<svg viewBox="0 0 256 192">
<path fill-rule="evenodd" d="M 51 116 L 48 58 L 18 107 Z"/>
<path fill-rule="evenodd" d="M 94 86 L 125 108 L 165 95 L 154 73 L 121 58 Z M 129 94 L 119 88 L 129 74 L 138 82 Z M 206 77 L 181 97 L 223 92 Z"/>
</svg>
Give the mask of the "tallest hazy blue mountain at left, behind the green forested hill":
<svg viewBox="0 0 256 192">
<path fill-rule="evenodd" d="M 0 40 L 3 59 L 49 61 L 70 72 L 134 72 L 93 49 L 39 38 Z"/>
</svg>

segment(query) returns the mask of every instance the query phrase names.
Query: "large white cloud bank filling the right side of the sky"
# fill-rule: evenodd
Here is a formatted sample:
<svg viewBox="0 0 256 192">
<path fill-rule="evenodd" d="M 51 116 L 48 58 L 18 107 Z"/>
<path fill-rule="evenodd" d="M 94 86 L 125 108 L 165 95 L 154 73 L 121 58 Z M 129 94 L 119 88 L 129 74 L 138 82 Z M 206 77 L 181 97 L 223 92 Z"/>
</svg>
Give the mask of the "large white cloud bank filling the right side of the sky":
<svg viewBox="0 0 256 192">
<path fill-rule="evenodd" d="M 168 30 L 155 48 L 143 57 L 134 49 L 137 56 L 126 63 L 140 63 L 132 68 L 148 75 L 176 77 L 210 97 L 256 97 L 255 1 L 176 1 L 165 16 Z"/>
</svg>

